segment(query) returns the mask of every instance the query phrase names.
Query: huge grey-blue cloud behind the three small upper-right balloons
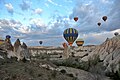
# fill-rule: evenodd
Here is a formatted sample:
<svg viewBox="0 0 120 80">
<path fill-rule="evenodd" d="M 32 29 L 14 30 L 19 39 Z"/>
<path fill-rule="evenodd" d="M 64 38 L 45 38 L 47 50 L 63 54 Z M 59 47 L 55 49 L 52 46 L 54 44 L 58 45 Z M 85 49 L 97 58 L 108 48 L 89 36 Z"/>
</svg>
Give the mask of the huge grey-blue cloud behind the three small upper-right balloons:
<svg viewBox="0 0 120 80">
<path fill-rule="evenodd" d="M 108 2 L 108 0 L 104 1 Z M 98 3 L 97 5 L 94 4 L 96 2 Z M 103 7 L 100 8 L 99 6 L 101 5 Z M 109 0 L 109 4 L 107 5 L 101 3 L 101 1 L 89 1 L 84 3 L 77 1 L 76 6 L 73 8 L 73 12 L 70 14 L 69 18 L 73 19 L 75 16 L 78 16 L 79 20 L 76 22 L 76 29 L 80 33 L 87 34 L 101 31 L 112 31 L 120 28 L 119 5 L 120 3 L 118 0 Z M 102 16 L 104 15 L 108 17 L 106 22 L 102 20 Z M 97 25 L 98 22 L 101 22 L 100 28 Z"/>
</svg>

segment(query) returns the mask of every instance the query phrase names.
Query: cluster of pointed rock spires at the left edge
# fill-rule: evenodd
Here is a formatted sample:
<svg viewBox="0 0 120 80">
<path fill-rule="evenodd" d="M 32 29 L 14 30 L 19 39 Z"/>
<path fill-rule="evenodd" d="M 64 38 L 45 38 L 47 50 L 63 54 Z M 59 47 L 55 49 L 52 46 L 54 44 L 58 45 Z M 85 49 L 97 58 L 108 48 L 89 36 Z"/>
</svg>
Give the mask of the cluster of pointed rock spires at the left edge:
<svg viewBox="0 0 120 80">
<path fill-rule="evenodd" d="M 21 42 L 19 39 L 17 39 L 14 43 L 14 46 L 12 46 L 10 39 L 5 40 L 5 42 L 0 45 L 0 49 L 3 52 L 6 52 L 8 58 L 17 57 L 17 60 L 23 60 L 24 58 L 26 60 L 30 60 L 30 53 L 27 48 L 27 45 L 23 42 L 21 45 Z M 2 56 L 0 56 L 2 58 Z"/>
</svg>

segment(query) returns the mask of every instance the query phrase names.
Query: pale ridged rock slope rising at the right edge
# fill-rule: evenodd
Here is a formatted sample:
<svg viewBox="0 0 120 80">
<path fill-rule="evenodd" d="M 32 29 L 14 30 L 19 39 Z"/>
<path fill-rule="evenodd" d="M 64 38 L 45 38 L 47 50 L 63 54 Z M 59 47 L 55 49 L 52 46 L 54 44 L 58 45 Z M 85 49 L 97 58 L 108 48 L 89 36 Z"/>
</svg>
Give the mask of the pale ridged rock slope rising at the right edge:
<svg viewBox="0 0 120 80">
<path fill-rule="evenodd" d="M 98 55 L 100 61 L 103 61 L 106 66 L 106 71 L 116 72 L 120 68 L 120 35 L 117 35 L 111 39 L 107 38 L 104 43 L 96 46 L 95 50 L 83 57 L 81 60 L 88 61 L 93 58 L 94 55 Z"/>
</svg>

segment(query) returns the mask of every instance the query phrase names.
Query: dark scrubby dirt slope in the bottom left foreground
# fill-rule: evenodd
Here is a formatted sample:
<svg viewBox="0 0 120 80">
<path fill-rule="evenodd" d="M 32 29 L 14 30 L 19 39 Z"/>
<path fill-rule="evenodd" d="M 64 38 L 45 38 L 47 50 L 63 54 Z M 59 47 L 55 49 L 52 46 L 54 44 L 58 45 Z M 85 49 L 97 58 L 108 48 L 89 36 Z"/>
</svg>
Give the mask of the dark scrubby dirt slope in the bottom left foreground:
<svg viewBox="0 0 120 80">
<path fill-rule="evenodd" d="M 74 80 L 61 72 L 42 68 L 39 63 L 0 58 L 0 80 Z"/>
</svg>

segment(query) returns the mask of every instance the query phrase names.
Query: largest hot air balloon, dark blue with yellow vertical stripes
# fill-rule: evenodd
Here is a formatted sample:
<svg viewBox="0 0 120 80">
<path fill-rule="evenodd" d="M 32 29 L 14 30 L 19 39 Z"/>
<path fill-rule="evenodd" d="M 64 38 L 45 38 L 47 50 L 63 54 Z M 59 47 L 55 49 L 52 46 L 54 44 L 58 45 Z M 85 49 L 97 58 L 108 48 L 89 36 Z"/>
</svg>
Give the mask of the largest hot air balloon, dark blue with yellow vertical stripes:
<svg viewBox="0 0 120 80">
<path fill-rule="evenodd" d="M 73 42 L 78 37 L 78 31 L 74 28 L 68 28 L 64 31 L 63 36 L 69 45 L 72 46 Z"/>
</svg>

